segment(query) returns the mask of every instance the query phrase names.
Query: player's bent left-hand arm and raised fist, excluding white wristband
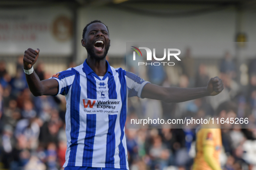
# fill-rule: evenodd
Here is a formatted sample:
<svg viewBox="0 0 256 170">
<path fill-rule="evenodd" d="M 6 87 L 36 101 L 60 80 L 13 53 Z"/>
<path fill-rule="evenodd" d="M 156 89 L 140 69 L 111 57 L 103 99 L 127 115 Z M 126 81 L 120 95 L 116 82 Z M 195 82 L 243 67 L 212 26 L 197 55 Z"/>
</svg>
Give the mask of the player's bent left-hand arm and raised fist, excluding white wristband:
<svg viewBox="0 0 256 170">
<path fill-rule="evenodd" d="M 29 70 L 36 63 L 39 57 L 39 49 L 33 50 L 29 48 L 25 51 L 23 57 L 23 67 L 25 70 Z M 36 72 L 32 74 L 26 74 L 26 80 L 29 85 L 29 90 L 34 96 L 41 95 L 56 95 L 58 93 L 58 81 L 55 79 L 39 80 Z"/>
</svg>

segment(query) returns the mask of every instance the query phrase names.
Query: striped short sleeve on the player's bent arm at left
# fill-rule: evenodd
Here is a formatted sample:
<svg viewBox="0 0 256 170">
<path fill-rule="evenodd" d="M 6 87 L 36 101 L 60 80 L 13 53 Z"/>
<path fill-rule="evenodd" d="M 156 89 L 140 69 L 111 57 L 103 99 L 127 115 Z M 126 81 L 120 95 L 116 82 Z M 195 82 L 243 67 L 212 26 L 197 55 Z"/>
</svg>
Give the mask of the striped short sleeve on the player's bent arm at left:
<svg viewBox="0 0 256 170">
<path fill-rule="evenodd" d="M 50 79 L 58 81 L 58 94 L 67 95 L 72 83 L 74 82 L 75 72 L 72 69 L 67 69 L 56 73 Z"/>
</svg>

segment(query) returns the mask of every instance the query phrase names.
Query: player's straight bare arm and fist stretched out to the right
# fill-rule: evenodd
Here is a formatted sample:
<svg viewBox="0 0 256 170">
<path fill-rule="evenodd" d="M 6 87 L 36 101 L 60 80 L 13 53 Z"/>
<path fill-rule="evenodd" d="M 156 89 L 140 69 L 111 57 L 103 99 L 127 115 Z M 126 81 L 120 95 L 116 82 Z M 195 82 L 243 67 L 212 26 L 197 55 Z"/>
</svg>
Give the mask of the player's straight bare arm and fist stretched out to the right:
<svg viewBox="0 0 256 170">
<path fill-rule="evenodd" d="M 207 87 L 201 88 L 165 88 L 148 83 L 144 86 L 141 97 L 162 100 L 167 103 L 178 103 L 205 96 L 215 96 L 223 89 L 223 82 L 218 77 L 211 78 L 207 83 Z"/>
</svg>

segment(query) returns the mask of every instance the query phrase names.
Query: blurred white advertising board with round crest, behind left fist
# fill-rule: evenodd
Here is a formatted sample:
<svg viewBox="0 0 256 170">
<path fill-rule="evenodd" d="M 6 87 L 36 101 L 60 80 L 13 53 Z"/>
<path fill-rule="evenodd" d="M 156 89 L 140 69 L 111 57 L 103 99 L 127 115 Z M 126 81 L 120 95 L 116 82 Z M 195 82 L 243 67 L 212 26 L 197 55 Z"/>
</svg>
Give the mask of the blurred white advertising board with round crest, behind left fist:
<svg viewBox="0 0 256 170">
<path fill-rule="evenodd" d="M 64 7 L 0 10 L 0 55 L 39 48 L 41 56 L 72 53 L 73 21 Z"/>
</svg>

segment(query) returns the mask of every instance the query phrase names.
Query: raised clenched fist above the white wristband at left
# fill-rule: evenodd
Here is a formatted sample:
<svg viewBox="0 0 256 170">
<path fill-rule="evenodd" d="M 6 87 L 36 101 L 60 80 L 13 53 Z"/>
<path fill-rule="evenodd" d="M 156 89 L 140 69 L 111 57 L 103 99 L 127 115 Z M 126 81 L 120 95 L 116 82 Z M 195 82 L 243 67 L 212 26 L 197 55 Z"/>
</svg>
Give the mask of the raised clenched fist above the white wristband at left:
<svg viewBox="0 0 256 170">
<path fill-rule="evenodd" d="M 33 50 L 32 48 L 29 48 L 25 51 L 24 57 L 23 57 L 23 66 L 24 69 L 29 70 L 32 68 L 32 66 L 36 63 L 36 60 L 39 56 L 39 49 Z"/>
</svg>

